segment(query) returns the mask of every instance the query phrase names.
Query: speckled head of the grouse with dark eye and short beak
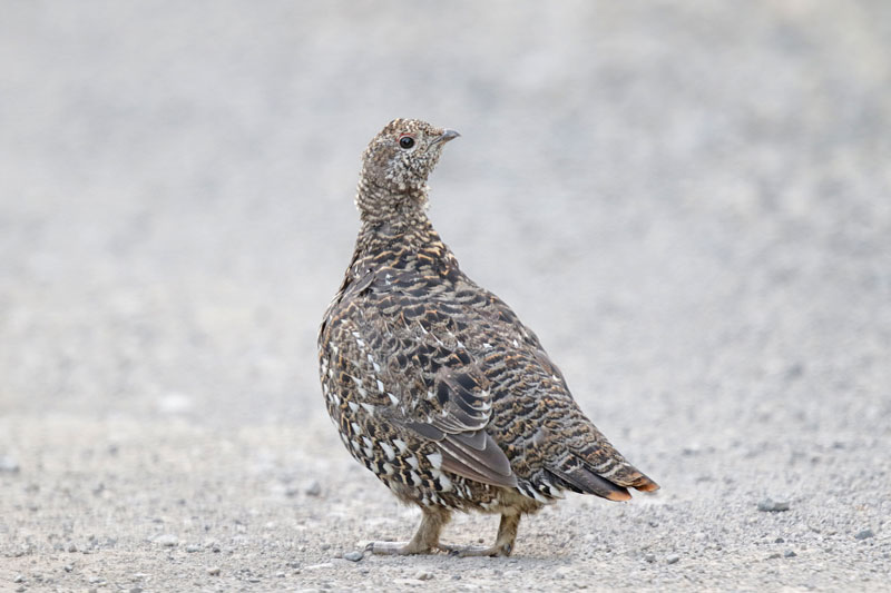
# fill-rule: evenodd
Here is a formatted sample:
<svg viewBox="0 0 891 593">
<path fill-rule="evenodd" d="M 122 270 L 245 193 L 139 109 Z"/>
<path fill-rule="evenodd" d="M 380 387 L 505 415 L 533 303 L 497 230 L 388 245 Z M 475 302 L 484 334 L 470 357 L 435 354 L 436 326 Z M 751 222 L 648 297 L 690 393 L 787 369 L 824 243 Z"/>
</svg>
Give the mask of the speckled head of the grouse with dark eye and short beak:
<svg viewBox="0 0 891 593">
<path fill-rule="evenodd" d="M 460 136 L 418 119 L 394 119 L 362 155 L 356 205 L 363 218 L 378 218 L 427 200 L 427 179 L 446 142 Z"/>
</svg>

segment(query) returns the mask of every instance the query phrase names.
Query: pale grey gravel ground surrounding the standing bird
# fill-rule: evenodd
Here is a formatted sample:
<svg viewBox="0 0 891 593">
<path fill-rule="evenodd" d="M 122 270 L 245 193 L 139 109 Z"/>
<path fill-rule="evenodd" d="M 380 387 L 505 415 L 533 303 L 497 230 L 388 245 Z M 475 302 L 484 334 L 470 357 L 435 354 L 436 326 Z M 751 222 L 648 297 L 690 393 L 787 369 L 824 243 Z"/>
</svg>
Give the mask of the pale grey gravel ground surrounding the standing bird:
<svg viewBox="0 0 891 593">
<path fill-rule="evenodd" d="M 889 40 L 882 1 L 6 3 L 0 590 L 891 590 Z M 658 494 L 344 560 L 418 521 L 315 369 L 399 116 L 462 132 L 440 233 Z"/>
</svg>

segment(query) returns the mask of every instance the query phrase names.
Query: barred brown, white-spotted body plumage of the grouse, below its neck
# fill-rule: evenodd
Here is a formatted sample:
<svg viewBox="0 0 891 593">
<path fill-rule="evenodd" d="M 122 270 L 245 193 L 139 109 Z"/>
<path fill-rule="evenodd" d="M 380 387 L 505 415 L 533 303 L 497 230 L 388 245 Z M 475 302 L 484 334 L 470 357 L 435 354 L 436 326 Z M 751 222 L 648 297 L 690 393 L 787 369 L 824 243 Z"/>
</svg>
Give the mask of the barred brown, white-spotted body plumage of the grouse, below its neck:
<svg viewBox="0 0 891 593">
<path fill-rule="evenodd" d="M 401 498 L 500 512 L 512 488 L 530 507 L 586 492 L 579 468 L 616 486 L 647 486 L 581 413 L 536 335 L 458 267 L 429 221 L 398 237 L 360 237 L 320 332 L 322 389 L 352 455 Z M 470 393 L 453 395 L 452 377 Z M 516 486 L 443 471 L 434 428 L 452 398 L 506 455 Z M 440 431 L 442 432 L 442 431 Z M 486 483 L 490 482 L 490 483 Z M 496 482 L 496 483 L 491 483 Z M 598 494 L 599 492 L 594 492 Z M 510 497 L 511 500 L 516 496 Z"/>
</svg>

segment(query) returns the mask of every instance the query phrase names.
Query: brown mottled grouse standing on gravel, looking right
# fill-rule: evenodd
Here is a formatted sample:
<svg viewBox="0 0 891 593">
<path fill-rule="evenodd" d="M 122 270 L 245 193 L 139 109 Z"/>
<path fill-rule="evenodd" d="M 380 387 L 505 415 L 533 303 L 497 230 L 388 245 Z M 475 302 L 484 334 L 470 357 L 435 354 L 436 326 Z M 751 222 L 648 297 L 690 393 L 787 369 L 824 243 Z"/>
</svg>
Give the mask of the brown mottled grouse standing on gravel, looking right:
<svg viewBox="0 0 891 593">
<path fill-rule="evenodd" d="M 566 492 L 610 501 L 658 485 L 584 414 L 536 334 L 471 280 L 427 214 L 431 171 L 460 134 L 394 119 L 369 144 L 361 227 L 319 330 L 327 412 L 346 449 L 421 510 L 372 554 L 508 556 L 520 518 Z M 440 542 L 454 512 L 500 514 L 491 546 Z"/>
</svg>

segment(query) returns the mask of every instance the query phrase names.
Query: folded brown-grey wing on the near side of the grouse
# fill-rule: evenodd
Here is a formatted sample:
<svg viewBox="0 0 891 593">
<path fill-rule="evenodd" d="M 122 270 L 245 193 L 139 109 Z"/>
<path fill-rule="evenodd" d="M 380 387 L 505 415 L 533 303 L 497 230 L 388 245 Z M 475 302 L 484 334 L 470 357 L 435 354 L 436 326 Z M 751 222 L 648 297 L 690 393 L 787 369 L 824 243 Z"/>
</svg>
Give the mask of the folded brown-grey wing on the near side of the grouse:
<svg viewBox="0 0 891 593">
<path fill-rule="evenodd" d="M 382 334 L 371 339 L 391 360 L 385 383 L 401 404 L 392 418 L 437 444 L 442 470 L 483 484 L 516 486 L 510 462 L 486 432 L 492 409 L 486 376 L 456 337 L 453 312 L 424 298 L 424 285 L 418 274 L 383 269 L 360 280 L 352 293 L 374 300 L 373 307 L 362 307 L 362 333 Z M 392 313 L 368 313 L 384 310 Z"/>
</svg>

